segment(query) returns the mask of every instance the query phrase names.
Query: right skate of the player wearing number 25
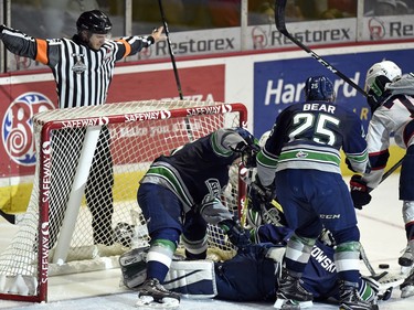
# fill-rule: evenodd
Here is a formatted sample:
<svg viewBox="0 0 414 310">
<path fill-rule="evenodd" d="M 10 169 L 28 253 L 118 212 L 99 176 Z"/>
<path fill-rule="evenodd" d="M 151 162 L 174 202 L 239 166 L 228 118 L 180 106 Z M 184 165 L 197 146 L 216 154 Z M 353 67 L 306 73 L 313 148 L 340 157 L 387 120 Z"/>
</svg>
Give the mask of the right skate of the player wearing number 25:
<svg viewBox="0 0 414 310">
<path fill-rule="evenodd" d="M 378 310 L 378 304 L 362 300 L 358 285 L 341 281 L 339 310 Z"/>
</svg>

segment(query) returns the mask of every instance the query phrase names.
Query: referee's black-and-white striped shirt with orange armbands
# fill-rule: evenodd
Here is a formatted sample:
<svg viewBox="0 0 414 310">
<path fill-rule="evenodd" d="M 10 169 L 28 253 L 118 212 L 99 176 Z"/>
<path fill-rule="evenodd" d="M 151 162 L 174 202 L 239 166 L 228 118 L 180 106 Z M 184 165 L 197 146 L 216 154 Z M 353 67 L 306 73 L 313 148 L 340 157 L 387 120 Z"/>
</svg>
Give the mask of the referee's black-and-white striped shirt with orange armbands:
<svg viewBox="0 0 414 310">
<path fill-rule="evenodd" d="M 2 29 L 0 38 L 13 54 L 51 67 L 60 108 L 105 104 L 115 63 L 153 43 L 152 36 L 128 36 L 106 40 L 95 51 L 85 45 L 77 34 L 72 40 L 43 40 L 7 26 Z"/>
</svg>

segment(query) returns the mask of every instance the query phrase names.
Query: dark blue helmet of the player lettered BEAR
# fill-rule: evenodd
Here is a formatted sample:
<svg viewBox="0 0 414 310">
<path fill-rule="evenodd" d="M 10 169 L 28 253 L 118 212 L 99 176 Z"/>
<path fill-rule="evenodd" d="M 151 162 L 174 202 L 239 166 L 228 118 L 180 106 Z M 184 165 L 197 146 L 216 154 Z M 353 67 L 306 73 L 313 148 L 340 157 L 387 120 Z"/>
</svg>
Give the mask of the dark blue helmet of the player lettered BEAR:
<svg viewBox="0 0 414 310">
<path fill-rule="evenodd" d="M 333 84 L 326 76 L 310 76 L 305 83 L 307 101 L 325 100 L 333 103 L 336 98 Z"/>
</svg>

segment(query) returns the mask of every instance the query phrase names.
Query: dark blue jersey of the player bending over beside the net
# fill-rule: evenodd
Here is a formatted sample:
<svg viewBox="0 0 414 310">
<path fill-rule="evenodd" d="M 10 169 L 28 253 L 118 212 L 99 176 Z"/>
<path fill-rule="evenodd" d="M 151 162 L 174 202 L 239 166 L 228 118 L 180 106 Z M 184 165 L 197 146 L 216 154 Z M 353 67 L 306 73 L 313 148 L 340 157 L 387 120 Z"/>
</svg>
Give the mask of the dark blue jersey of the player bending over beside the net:
<svg viewBox="0 0 414 310">
<path fill-rule="evenodd" d="M 194 142 L 174 150 L 171 156 L 157 158 L 141 183 L 160 184 L 170 189 L 184 204 L 221 204 L 222 191 L 229 182 L 229 169 L 240 157 L 232 151 L 243 138 L 234 130 L 219 129 Z"/>
</svg>

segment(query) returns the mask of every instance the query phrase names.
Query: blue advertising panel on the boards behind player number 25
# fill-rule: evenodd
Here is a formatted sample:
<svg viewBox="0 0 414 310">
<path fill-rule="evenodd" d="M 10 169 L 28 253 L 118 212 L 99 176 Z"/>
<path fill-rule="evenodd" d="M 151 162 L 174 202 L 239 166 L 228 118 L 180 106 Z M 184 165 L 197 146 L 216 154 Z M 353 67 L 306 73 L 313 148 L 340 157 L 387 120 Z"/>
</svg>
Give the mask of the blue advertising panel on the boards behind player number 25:
<svg viewBox="0 0 414 310">
<path fill-rule="evenodd" d="M 376 62 L 390 60 L 403 71 L 414 71 L 413 51 L 369 52 L 323 56 L 330 65 L 348 76 L 361 88 L 367 71 Z M 309 76 L 329 77 L 337 93 L 337 104 L 342 105 L 362 119 L 365 129 L 371 118 L 365 97 L 322 64 L 307 55 L 304 58 L 258 62 L 254 65 L 254 135 L 261 137 L 269 130 L 277 115 L 288 105 L 305 100 L 304 86 Z"/>
</svg>

